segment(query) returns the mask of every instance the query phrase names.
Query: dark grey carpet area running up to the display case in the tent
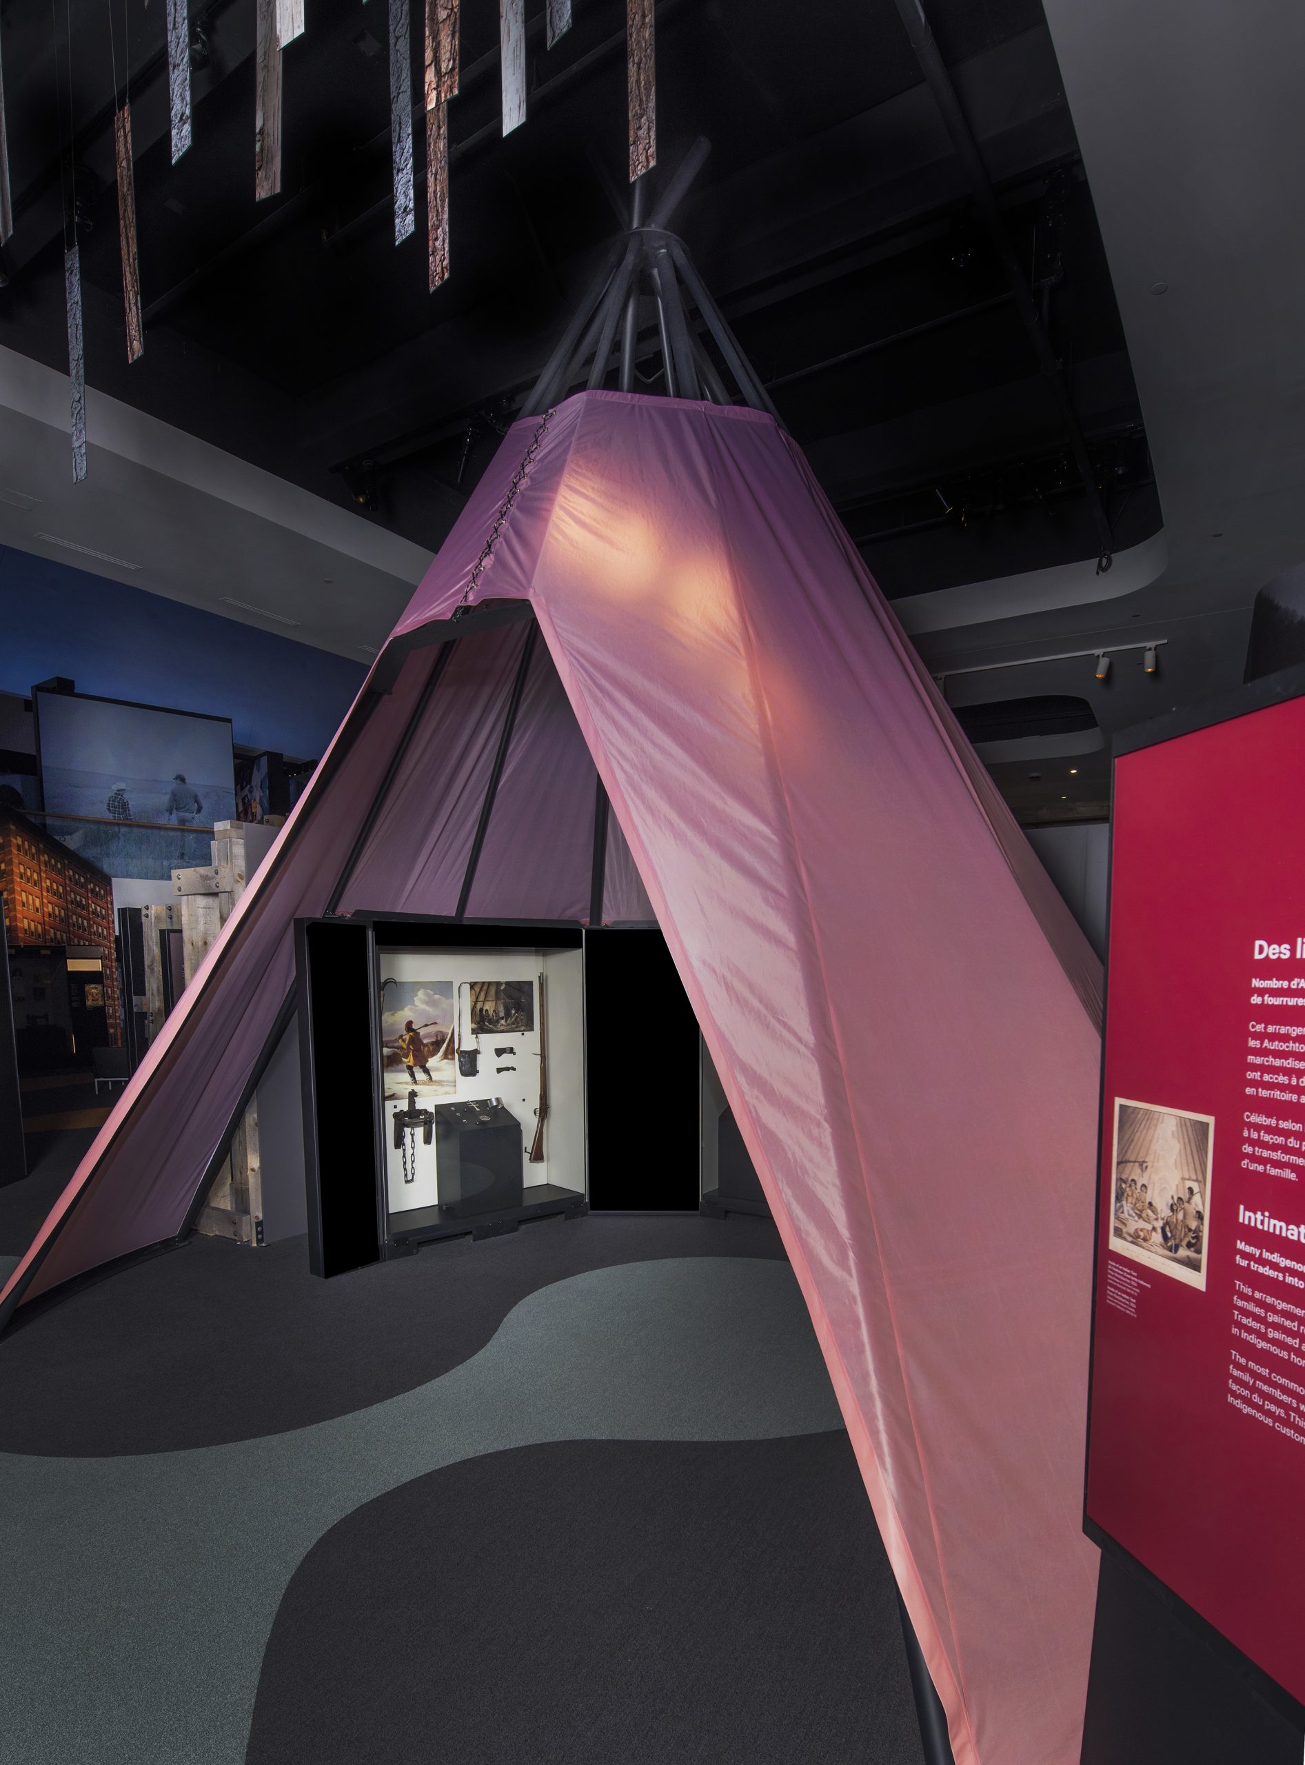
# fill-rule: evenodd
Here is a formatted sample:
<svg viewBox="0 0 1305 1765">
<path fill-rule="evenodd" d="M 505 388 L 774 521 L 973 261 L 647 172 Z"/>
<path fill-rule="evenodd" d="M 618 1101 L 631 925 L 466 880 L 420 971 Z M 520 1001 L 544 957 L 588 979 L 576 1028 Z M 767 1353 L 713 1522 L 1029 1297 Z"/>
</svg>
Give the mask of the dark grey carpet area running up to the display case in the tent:
<svg viewBox="0 0 1305 1765">
<path fill-rule="evenodd" d="M 168 1453 L 348 1416 L 459 1366 L 540 1287 L 660 1257 L 784 1250 L 768 1220 L 590 1214 L 321 1281 L 302 1237 L 194 1237 L 19 1310 L 0 1340 L 0 1451 Z"/>
</svg>

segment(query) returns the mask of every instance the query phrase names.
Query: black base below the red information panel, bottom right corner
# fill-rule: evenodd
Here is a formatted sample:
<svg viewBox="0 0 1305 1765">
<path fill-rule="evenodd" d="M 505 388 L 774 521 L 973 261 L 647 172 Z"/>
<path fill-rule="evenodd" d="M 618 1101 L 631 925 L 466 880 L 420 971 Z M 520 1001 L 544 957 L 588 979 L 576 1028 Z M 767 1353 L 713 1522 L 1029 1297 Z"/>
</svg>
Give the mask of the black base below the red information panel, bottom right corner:
<svg viewBox="0 0 1305 1765">
<path fill-rule="evenodd" d="M 1082 1765 L 1300 1765 L 1271 1709 L 1148 1574 L 1102 1551 Z"/>
</svg>

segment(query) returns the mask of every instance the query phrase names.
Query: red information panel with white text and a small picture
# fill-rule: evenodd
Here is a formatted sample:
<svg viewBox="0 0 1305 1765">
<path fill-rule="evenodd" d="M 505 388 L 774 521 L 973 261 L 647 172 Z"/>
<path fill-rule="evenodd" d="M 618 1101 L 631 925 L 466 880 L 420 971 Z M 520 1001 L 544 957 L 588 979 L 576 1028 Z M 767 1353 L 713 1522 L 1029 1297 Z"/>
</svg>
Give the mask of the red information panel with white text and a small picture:
<svg viewBox="0 0 1305 1765">
<path fill-rule="evenodd" d="M 1305 699 L 1121 754 L 1111 863 L 1086 1514 L 1305 1701 Z"/>
</svg>

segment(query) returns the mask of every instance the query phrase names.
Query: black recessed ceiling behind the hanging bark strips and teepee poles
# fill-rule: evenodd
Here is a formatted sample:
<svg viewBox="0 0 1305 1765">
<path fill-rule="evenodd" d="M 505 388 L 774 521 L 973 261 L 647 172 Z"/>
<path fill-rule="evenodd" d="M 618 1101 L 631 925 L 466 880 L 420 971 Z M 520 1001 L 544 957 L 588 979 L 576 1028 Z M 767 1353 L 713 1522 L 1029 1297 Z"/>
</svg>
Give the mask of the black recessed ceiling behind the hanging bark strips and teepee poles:
<svg viewBox="0 0 1305 1765">
<path fill-rule="evenodd" d="M 925 7 L 1065 364 L 1114 545 L 1135 544 L 1158 505 L 1040 0 Z M 498 7 L 463 0 L 452 275 L 427 293 L 420 194 L 417 235 L 392 242 L 385 0 L 307 0 L 284 51 L 283 194 L 263 203 L 253 0 L 191 0 L 208 58 L 177 166 L 164 0 L 69 0 L 53 23 L 11 0 L 0 342 L 65 365 L 71 118 L 90 383 L 438 545 L 629 201 L 625 5 L 574 0 L 574 14 L 547 51 L 528 0 L 528 120 L 503 139 Z M 111 162 L 127 35 L 147 312 L 131 367 Z M 890 595 L 1095 556 L 1063 413 L 894 0 L 660 0 L 657 122 L 653 178 L 712 141 L 676 228 Z M 643 369 L 655 390 L 653 346 Z"/>
</svg>

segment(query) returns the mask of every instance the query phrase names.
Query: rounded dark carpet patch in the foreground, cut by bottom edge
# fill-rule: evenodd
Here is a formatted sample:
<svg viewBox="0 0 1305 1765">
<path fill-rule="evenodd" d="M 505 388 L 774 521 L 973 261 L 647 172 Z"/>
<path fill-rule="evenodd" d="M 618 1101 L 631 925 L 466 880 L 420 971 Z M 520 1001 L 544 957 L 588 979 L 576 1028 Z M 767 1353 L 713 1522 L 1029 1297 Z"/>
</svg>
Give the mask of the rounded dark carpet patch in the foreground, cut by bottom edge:
<svg viewBox="0 0 1305 1765">
<path fill-rule="evenodd" d="M 247 1765 L 917 1765 L 846 1433 L 530 1446 L 307 1553 Z"/>
</svg>

